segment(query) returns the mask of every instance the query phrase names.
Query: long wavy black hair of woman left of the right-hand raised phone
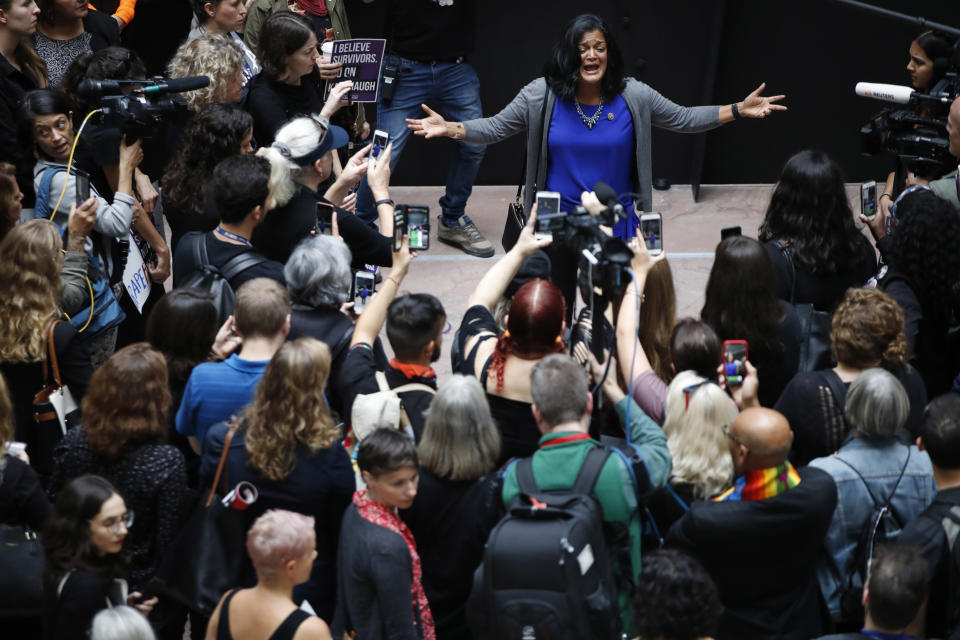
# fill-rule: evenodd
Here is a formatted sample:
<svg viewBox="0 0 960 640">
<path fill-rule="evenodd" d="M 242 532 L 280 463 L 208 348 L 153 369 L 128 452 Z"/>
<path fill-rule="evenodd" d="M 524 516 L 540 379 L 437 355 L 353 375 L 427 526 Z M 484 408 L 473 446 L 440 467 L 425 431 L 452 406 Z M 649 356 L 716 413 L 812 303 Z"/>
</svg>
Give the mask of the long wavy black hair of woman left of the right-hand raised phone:
<svg viewBox="0 0 960 640">
<path fill-rule="evenodd" d="M 855 268 L 869 249 L 854 224 L 840 165 L 813 149 L 787 160 L 759 238 L 782 241 L 795 264 L 822 275 Z"/>
</svg>

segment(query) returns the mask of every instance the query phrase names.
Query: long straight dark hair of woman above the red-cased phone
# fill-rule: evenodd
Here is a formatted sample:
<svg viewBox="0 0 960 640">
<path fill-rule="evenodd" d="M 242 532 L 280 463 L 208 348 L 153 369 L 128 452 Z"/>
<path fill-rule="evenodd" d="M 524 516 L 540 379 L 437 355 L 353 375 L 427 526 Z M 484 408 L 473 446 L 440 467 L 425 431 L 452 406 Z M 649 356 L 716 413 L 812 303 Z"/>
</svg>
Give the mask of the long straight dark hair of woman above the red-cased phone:
<svg viewBox="0 0 960 640">
<path fill-rule="evenodd" d="M 763 245 L 747 236 L 727 238 L 717 245 L 700 319 L 720 340 L 748 340 L 751 350 L 782 353 L 778 336 L 784 311 L 777 290 Z"/>
</svg>

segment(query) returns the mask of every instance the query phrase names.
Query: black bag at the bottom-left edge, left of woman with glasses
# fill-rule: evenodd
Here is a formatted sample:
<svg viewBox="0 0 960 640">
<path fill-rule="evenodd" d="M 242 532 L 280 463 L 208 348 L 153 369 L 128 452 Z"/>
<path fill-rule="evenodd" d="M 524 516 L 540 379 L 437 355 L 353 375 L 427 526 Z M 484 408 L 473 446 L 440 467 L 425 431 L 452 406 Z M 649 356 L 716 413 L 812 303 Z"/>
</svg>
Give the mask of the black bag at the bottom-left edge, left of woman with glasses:
<svg viewBox="0 0 960 640">
<path fill-rule="evenodd" d="M 43 544 L 23 525 L 0 524 L 0 618 L 32 617 L 43 608 Z"/>
</svg>

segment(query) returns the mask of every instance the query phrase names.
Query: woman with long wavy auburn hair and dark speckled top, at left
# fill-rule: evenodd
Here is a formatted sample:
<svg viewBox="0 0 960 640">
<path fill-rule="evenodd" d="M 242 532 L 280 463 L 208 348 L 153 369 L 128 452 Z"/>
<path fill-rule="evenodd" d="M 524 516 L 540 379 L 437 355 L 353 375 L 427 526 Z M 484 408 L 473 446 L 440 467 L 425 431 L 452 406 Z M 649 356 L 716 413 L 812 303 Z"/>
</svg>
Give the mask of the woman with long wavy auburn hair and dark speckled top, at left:
<svg viewBox="0 0 960 640">
<path fill-rule="evenodd" d="M 132 589 L 149 581 L 177 533 L 187 494 L 183 454 L 167 437 L 167 363 L 145 342 L 117 351 L 90 379 L 83 426 L 63 437 L 54 453 L 50 491 L 96 474 L 109 480 L 137 514 L 124 541 L 131 556 Z"/>
</svg>

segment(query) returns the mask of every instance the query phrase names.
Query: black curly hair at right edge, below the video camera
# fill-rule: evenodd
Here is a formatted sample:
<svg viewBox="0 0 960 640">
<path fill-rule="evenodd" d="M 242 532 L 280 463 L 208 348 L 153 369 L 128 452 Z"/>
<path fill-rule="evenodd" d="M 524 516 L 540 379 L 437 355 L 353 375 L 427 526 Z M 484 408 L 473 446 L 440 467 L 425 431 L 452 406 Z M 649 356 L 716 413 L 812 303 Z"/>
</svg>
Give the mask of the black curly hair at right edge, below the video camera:
<svg viewBox="0 0 960 640">
<path fill-rule="evenodd" d="M 960 281 L 960 212 L 932 191 L 909 193 L 897 204 L 890 262 L 910 281 L 924 318 L 950 313 Z"/>
</svg>

